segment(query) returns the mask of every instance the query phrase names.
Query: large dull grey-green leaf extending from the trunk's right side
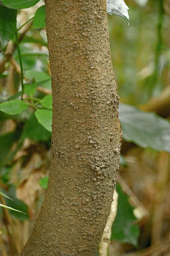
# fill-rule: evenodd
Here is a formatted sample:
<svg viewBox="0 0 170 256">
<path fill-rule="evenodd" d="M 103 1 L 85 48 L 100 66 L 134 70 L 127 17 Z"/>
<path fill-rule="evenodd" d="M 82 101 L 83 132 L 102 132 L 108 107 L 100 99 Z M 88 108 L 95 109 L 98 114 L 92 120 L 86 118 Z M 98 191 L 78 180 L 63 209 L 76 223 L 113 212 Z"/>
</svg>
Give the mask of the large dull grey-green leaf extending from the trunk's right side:
<svg viewBox="0 0 170 256">
<path fill-rule="evenodd" d="M 170 153 L 170 122 L 152 112 L 127 104 L 119 105 L 123 138 L 142 148 Z"/>
</svg>

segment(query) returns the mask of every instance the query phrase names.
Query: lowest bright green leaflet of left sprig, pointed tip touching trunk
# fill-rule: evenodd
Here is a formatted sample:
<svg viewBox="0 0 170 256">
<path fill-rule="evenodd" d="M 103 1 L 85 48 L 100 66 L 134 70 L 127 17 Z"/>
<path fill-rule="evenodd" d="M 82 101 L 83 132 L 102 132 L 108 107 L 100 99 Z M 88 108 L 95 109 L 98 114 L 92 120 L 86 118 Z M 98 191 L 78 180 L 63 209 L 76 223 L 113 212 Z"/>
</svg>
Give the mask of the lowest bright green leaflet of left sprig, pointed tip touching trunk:
<svg viewBox="0 0 170 256">
<path fill-rule="evenodd" d="M 45 127 L 49 132 L 52 131 L 52 110 L 47 109 L 38 109 L 35 112 L 35 116 L 38 119 L 38 122 Z"/>
</svg>

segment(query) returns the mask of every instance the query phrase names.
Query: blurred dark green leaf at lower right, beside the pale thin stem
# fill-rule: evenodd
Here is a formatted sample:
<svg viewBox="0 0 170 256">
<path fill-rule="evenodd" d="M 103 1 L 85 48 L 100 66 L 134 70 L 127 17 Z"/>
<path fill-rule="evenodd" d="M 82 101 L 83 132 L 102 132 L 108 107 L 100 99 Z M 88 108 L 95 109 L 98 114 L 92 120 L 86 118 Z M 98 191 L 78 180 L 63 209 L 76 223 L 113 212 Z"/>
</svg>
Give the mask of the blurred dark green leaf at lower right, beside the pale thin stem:
<svg viewBox="0 0 170 256">
<path fill-rule="evenodd" d="M 118 196 L 117 215 L 112 226 L 111 239 L 116 239 L 123 243 L 138 245 L 140 235 L 139 226 L 134 224 L 136 217 L 133 214 L 134 207 L 128 202 L 128 196 L 121 190 L 119 184 L 116 185 Z"/>
</svg>

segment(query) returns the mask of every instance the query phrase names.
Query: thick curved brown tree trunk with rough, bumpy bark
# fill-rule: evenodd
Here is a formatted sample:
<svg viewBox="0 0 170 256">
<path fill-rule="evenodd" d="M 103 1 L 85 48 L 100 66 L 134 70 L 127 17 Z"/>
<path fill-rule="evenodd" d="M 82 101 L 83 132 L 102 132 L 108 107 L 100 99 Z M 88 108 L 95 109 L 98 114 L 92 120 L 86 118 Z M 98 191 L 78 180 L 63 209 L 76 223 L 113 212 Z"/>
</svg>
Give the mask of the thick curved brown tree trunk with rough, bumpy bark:
<svg viewBox="0 0 170 256">
<path fill-rule="evenodd" d="M 109 216 L 121 128 L 106 0 L 46 0 L 53 125 L 49 186 L 21 256 L 94 256 Z"/>
</svg>

